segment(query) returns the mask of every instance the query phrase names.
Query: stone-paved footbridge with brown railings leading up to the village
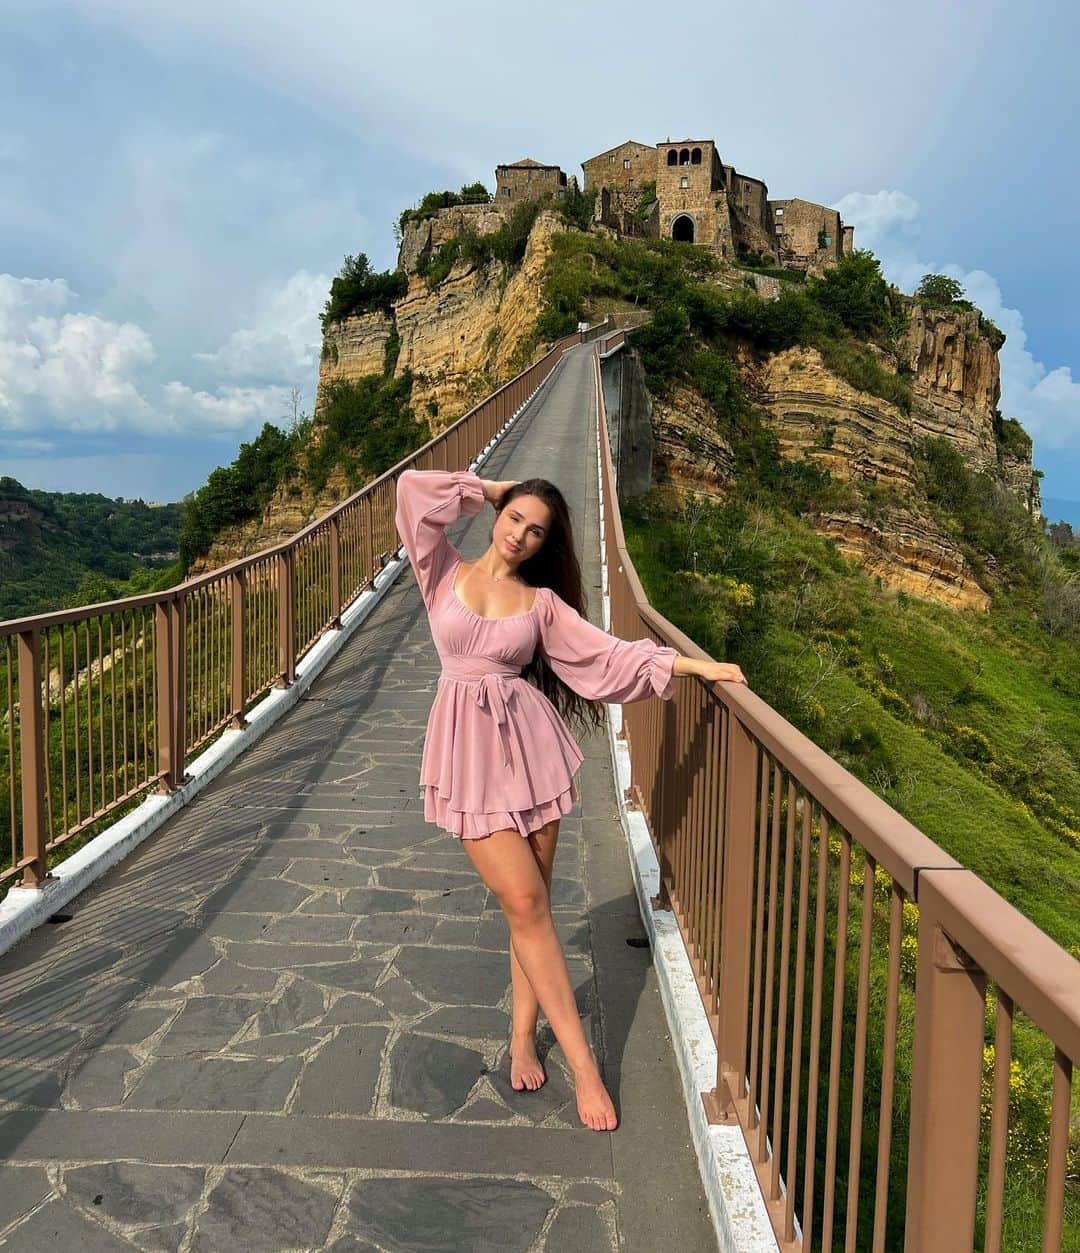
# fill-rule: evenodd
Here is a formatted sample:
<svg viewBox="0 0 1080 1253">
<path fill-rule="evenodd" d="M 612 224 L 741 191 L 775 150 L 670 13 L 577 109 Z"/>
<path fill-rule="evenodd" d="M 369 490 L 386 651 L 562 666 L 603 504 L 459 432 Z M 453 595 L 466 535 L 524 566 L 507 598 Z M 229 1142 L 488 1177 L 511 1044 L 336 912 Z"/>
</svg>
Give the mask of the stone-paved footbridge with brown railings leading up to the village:
<svg viewBox="0 0 1080 1253">
<path fill-rule="evenodd" d="M 0 1245 L 992 1253 L 1024 1017 L 1021 1218 L 1071 1247 L 1080 966 L 733 685 L 610 709 L 561 824 L 619 1129 L 580 1126 L 550 1035 L 510 1089 L 506 926 L 417 796 L 439 665 L 393 484 L 553 479 L 594 620 L 703 657 L 625 551 L 608 330 L 284 545 L 0 624 Z"/>
</svg>

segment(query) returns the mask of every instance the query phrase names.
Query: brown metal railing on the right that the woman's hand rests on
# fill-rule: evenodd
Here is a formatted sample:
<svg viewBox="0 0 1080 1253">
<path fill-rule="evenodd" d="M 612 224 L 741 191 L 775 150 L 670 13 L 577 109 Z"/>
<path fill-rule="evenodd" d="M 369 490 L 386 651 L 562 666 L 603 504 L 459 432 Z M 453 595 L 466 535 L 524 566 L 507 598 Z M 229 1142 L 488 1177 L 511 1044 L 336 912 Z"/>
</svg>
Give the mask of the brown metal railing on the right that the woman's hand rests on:
<svg viewBox="0 0 1080 1253">
<path fill-rule="evenodd" d="M 599 372 L 615 342 L 595 353 L 611 630 L 705 658 L 626 553 Z M 1059 1249 L 1080 962 L 748 688 L 695 679 L 628 705 L 624 728 L 654 903 L 717 1042 L 705 1108 L 742 1128 L 778 1245 L 955 1253 L 981 1229 L 999 1253 L 1026 1158 L 1045 1179 L 1029 1222 Z M 1045 1139 L 1017 1148 L 1021 1014 L 1050 1099 Z"/>
</svg>

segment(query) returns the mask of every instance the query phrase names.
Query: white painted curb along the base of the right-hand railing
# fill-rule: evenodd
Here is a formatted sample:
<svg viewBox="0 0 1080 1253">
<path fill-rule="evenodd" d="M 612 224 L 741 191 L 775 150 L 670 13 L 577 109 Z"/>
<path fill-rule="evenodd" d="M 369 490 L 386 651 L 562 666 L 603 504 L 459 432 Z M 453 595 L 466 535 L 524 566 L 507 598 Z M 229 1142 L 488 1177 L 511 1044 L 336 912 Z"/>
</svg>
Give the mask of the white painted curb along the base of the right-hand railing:
<svg viewBox="0 0 1080 1253">
<path fill-rule="evenodd" d="M 604 550 L 604 481 L 599 439 L 598 429 L 600 589 L 604 628 L 610 630 L 611 601 L 608 594 L 608 558 Z M 675 916 L 670 910 L 654 910 L 650 903 L 650 898 L 660 890 L 660 866 L 644 816 L 626 807 L 630 753 L 626 742 L 616 738 L 623 729 L 623 707 L 609 704 L 606 708 L 608 746 L 615 774 L 619 818 L 626 836 L 638 908 L 649 932 L 653 967 L 657 971 L 660 1000 L 683 1080 L 690 1135 L 698 1154 L 698 1167 L 705 1185 L 705 1198 L 717 1232 L 717 1242 L 723 1253 L 777 1253 L 777 1240 L 743 1133 L 738 1126 L 713 1126 L 705 1118 L 702 1093 L 710 1091 L 715 1086 L 717 1046 Z"/>
</svg>

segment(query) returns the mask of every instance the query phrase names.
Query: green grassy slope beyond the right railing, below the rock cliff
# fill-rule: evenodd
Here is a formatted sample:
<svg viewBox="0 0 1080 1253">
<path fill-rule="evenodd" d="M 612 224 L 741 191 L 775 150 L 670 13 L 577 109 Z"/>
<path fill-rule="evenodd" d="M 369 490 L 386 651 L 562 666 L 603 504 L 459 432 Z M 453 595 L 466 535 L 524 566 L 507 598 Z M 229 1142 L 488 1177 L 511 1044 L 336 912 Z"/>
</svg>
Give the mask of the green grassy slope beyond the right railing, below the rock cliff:
<svg viewBox="0 0 1080 1253">
<path fill-rule="evenodd" d="M 761 538 L 771 548 L 771 571 L 754 591 L 764 605 L 767 624 L 754 633 L 754 628 L 743 629 L 724 618 L 720 633 L 705 614 L 688 606 L 672 576 L 673 533 L 667 531 L 665 544 L 655 509 L 649 509 L 646 517 L 634 507 L 626 510 L 626 540 L 653 604 L 712 655 L 738 659 L 750 687 L 801 730 L 1042 930 L 1080 952 L 1080 847 L 1047 831 L 1037 814 L 1002 787 L 947 753 L 912 712 L 905 717 L 895 702 L 883 703 L 861 682 L 861 667 L 883 654 L 892 667 L 892 692 L 907 698 L 918 694 L 938 709 L 955 707 L 960 698 L 962 714 L 957 720 L 986 736 L 995 756 L 1015 756 L 1040 718 L 1050 736 L 1075 753 L 1080 703 L 1046 678 L 1056 654 L 1067 653 L 1069 647 L 1044 642 L 1039 648 L 1034 640 L 1017 647 L 1015 639 L 1002 635 L 1007 623 L 992 613 L 980 620 L 971 613 L 897 598 L 848 563 L 833 570 L 831 545 L 812 535 L 806 524 L 782 515 L 774 516 L 773 528 Z M 778 544 L 786 544 L 787 551 Z M 842 606 L 842 619 L 818 619 L 807 637 L 784 625 L 791 604 L 788 574 L 794 574 L 796 565 L 802 569 L 807 551 L 816 548 L 818 584 L 827 585 L 821 600 Z M 846 625 L 849 619 L 857 625 Z M 816 689 L 813 700 L 798 703 L 778 687 L 788 668 L 807 684 L 812 682 L 818 670 L 816 657 L 826 653 L 828 630 L 842 637 L 846 655 Z M 862 728 L 868 724 L 881 738 L 863 748 Z M 1072 804 L 1080 801 L 1080 772 L 1072 753 L 1062 754 L 1047 783 L 1056 797 Z"/>
</svg>

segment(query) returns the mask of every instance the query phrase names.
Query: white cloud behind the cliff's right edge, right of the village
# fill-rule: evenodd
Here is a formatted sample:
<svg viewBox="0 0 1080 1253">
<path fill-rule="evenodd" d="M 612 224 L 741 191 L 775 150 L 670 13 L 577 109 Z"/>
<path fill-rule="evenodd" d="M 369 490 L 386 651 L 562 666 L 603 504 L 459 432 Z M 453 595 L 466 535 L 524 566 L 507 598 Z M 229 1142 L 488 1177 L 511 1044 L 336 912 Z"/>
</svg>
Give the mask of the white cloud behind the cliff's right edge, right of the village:
<svg viewBox="0 0 1080 1253">
<path fill-rule="evenodd" d="M 886 277 L 911 292 L 923 274 L 948 274 L 963 284 L 967 298 L 1006 335 L 1001 350 L 1001 411 L 1016 417 L 1040 451 L 1080 452 L 1080 381 L 1067 366 L 1049 368 L 1027 347 L 1024 316 L 1005 303 L 1001 287 L 985 269 L 965 271 L 953 262 L 920 254 L 921 211 L 903 192 L 853 192 L 837 208 L 854 226 L 857 247 L 870 248 Z"/>
</svg>

